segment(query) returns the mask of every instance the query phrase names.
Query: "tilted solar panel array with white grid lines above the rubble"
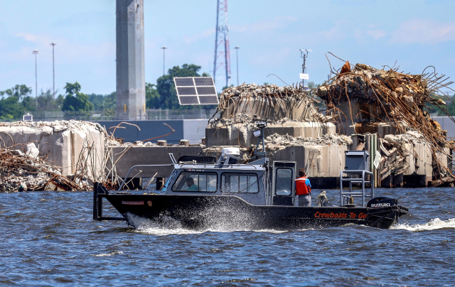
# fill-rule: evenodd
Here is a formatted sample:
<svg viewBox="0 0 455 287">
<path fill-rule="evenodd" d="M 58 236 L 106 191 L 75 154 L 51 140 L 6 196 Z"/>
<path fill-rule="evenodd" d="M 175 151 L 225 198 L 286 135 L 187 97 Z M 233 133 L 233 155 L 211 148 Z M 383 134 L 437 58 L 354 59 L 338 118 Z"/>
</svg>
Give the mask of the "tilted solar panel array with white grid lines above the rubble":
<svg viewBox="0 0 455 287">
<path fill-rule="evenodd" d="M 180 104 L 218 104 L 213 77 L 174 77 Z"/>
</svg>

